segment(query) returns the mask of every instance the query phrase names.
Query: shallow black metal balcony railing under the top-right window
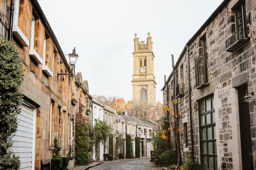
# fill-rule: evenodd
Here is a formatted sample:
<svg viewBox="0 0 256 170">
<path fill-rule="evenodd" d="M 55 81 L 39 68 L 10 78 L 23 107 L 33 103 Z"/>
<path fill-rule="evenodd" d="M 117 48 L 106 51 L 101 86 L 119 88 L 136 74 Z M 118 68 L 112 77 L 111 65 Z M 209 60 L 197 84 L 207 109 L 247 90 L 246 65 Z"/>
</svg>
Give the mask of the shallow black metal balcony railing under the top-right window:
<svg viewBox="0 0 256 170">
<path fill-rule="evenodd" d="M 250 37 L 247 32 L 248 29 L 239 30 L 226 40 L 226 51 L 233 52 L 249 41 Z"/>
</svg>

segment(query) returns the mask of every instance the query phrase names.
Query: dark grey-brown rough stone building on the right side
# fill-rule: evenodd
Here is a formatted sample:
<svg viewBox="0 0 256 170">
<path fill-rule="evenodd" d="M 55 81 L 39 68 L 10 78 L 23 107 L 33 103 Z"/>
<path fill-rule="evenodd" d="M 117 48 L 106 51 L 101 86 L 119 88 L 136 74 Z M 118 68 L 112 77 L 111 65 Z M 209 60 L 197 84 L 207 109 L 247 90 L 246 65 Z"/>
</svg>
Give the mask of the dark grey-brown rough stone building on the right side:
<svg viewBox="0 0 256 170">
<path fill-rule="evenodd" d="M 256 169 L 255 11 L 256 1 L 223 1 L 173 62 L 162 90 L 183 113 L 183 163 L 190 150 L 205 168 Z"/>
</svg>

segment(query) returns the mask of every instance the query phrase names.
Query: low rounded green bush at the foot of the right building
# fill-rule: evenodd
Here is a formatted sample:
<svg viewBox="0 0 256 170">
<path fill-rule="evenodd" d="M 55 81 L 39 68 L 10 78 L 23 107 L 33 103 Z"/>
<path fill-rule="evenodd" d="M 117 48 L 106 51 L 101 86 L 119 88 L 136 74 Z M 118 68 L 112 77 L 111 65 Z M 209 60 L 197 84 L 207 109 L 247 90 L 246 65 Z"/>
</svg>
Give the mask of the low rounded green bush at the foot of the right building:
<svg viewBox="0 0 256 170">
<path fill-rule="evenodd" d="M 164 151 L 164 153 L 158 156 L 156 162 L 164 166 L 175 164 L 177 162 L 175 151 L 171 149 Z"/>
</svg>

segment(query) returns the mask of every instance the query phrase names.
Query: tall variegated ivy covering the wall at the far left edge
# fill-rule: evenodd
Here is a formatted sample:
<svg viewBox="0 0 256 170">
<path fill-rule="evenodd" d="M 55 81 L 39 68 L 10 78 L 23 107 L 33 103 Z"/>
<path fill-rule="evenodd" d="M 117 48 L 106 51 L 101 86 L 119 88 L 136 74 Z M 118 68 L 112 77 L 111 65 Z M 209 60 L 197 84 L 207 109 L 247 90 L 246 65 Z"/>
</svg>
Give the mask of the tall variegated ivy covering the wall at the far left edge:
<svg viewBox="0 0 256 170">
<path fill-rule="evenodd" d="M 23 82 L 23 66 L 15 44 L 0 40 L 0 169 L 19 169 L 19 157 L 10 150 L 17 131 L 17 114 L 23 101 L 19 87 Z"/>
</svg>

